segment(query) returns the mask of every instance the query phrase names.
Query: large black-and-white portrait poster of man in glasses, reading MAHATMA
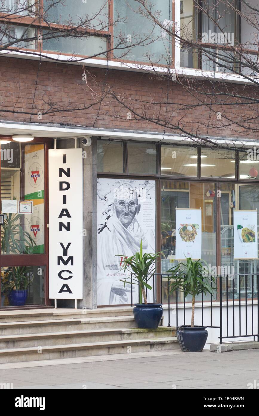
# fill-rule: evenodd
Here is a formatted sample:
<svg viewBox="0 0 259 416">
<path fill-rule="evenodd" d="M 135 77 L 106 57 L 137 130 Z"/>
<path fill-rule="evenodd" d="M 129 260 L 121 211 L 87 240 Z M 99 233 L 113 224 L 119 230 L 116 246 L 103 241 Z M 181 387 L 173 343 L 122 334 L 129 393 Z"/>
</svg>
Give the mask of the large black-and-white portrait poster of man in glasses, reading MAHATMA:
<svg viewBox="0 0 259 416">
<path fill-rule="evenodd" d="M 131 302 L 131 285 L 120 281 L 123 256 L 139 251 L 156 253 L 155 181 L 97 179 L 97 302 L 125 305 Z M 117 254 L 121 256 L 116 256 Z M 138 287 L 133 285 L 133 302 Z M 153 302 L 149 291 L 148 300 Z"/>
</svg>

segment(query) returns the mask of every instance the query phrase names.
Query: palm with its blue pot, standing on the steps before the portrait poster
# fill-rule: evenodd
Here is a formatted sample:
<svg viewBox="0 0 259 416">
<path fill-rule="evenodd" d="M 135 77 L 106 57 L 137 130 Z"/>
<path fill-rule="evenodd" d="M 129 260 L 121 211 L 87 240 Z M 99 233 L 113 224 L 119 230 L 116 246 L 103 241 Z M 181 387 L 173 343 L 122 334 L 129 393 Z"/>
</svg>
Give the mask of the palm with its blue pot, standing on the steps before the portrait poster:
<svg viewBox="0 0 259 416">
<path fill-rule="evenodd" d="M 133 314 L 137 326 L 139 328 L 157 328 L 161 321 L 163 308 L 161 303 L 148 303 L 146 289 L 151 290 L 149 280 L 153 276 L 152 273 L 156 270 L 156 260 L 160 257 L 158 254 L 144 253 L 142 250 L 142 240 L 140 243 L 140 250 L 131 257 L 120 255 L 124 258 L 122 270 L 127 270 L 130 275 L 125 279 L 120 279 L 124 282 L 124 287 L 127 283 L 139 286 L 139 303 L 135 304 Z M 142 298 L 144 303 L 142 303 Z"/>
</svg>

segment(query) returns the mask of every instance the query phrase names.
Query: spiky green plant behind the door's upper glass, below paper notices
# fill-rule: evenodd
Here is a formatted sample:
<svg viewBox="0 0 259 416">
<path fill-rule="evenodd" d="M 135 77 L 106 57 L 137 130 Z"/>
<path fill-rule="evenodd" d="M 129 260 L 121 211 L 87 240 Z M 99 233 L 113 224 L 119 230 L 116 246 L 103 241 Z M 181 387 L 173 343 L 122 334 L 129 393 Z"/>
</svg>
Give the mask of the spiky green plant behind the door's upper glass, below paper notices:
<svg viewBox="0 0 259 416">
<path fill-rule="evenodd" d="M 2 253 L 30 254 L 37 246 L 32 236 L 22 229 L 21 214 L 7 214 L 1 226 Z"/>
</svg>

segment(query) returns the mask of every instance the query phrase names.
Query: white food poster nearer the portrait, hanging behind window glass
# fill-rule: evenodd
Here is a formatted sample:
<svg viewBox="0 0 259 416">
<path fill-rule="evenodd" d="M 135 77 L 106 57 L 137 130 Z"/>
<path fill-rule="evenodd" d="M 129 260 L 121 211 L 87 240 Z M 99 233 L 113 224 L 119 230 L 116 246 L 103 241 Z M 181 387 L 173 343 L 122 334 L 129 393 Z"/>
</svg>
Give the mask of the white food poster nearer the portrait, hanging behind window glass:
<svg viewBox="0 0 259 416">
<path fill-rule="evenodd" d="M 176 208 L 176 259 L 201 258 L 201 209 Z"/>
</svg>

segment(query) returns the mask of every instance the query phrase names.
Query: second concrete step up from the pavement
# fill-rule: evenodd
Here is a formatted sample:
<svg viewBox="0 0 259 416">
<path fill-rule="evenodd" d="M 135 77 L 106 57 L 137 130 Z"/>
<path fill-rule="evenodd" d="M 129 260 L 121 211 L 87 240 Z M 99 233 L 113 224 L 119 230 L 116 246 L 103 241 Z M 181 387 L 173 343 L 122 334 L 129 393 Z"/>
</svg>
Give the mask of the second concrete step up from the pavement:
<svg viewBox="0 0 259 416">
<path fill-rule="evenodd" d="M 45 347 L 47 345 L 78 344 L 82 342 L 131 341 L 134 339 L 155 339 L 175 336 L 175 327 L 159 327 L 157 329 L 92 329 L 42 334 L 3 335 L 0 336 L 0 349 Z"/>
</svg>

